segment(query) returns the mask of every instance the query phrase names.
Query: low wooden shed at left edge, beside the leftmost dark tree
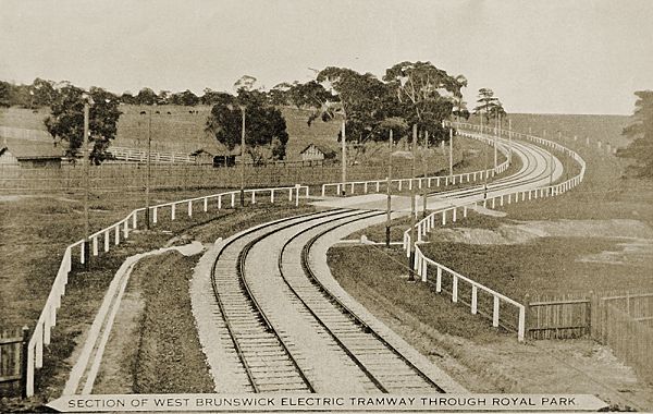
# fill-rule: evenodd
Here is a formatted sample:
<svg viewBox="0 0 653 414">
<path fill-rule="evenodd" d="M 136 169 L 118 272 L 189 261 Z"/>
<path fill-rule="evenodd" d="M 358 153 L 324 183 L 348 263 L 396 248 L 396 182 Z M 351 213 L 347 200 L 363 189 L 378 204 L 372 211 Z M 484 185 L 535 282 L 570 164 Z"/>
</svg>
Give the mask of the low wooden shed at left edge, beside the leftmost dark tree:
<svg viewBox="0 0 653 414">
<path fill-rule="evenodd" d="M 64 151 L 54 142 L 4 137 L 0 141 L 0 167 L 59 168 Z"/>
</svg>

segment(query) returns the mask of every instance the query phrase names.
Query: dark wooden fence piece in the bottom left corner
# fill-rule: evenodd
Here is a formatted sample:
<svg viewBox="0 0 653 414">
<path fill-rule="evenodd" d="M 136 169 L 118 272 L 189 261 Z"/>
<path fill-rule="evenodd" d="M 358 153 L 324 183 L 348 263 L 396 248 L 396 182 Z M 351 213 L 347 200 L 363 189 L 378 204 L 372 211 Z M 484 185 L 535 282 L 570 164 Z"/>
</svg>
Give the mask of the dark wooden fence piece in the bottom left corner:
<svg viewBox="0 0 653 414">
<path fill-rule="evenodd" d="M 29 328 L 0 332 L 0 395 L 25 397 Z"/>
</svg>

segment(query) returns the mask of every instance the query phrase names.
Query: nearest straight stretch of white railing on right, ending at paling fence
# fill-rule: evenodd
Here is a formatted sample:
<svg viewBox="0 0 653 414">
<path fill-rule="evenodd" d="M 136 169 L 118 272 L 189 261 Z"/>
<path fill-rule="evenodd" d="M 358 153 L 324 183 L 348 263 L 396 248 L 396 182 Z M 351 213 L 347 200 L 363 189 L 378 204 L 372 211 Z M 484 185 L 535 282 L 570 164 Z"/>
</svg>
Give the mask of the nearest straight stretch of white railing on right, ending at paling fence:
<svg viewBox="0 0 653 414">
<path fill-rule="evenodd" d="M 471 294 L 469 297 L 469 307 L 471 309 L 471 314 L 472 315 L 477 315 L 479 312 L 479 293 L 486 293 L 488 295 L 492 296 L 492 326 L 497 328 L 500 325 L 500 320 L 501 320 L 501 303 L 505 303 L 508 304 L 510 306 L 514 306 L 517 309 L 518 316 L 517 316 L 517 322 L 515 324 L 515 326 L 517 327 L 517 339 L 521 342 L 523 341 L 523 334 L 525 334 L 525 327 L 526 327 L 526 307 L 509 299 L 508 296 L 505 296 L 490 288 L 486 288 L 484 285 L 482 285 L 479 282 L 476 282 L 460 273 L 458 273 L 457 271 L 454 271 L 452 269 L 449 269 L 446 266 L 443 266 L 439 263 L 435 263 L 434 260 L 428 258 L 427 256 L 423 255 L 423 253 L 421 252 L 421 249 L 419 248 L 419 246 L 415 246 L 415 263 L 414 263 L 414 269 L 417 272 L 418 277 L 421 278 L 422 282 L 428 282 L 429 281 L 429 266 L 431 266 L 431 268 L 435 268 L 435 292 L 441 293 L 442 292 L 442 284 L 443 284 L 443 278 L 444 277 L 451 277 L 452 279 L 452 302 L 453 303 L 458 303 L 460 300 L 460 282 L 465 282 L 468 283 L 471 287 Z"/>
</svg>

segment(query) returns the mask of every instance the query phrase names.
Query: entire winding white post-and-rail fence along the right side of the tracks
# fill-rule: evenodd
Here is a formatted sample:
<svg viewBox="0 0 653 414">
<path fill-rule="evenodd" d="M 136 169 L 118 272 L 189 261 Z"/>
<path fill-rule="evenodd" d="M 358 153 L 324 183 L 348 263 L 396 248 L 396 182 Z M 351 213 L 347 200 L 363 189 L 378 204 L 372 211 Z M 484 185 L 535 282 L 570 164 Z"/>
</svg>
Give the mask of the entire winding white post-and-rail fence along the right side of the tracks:
<svg viewBox="0 0 653 414">
<path fill-rule="evenodd" d="M 500 324 L 503 324 L 507 328 L 514 328 L 517 331 L 518 340 L 523 341 L 525 340 L 525 331 L 526 331 L 526 307 L 522 304 L 520 304 L 517 301 L 509 299 L 498 292 L 495 292 L 492 289 L 486 288 L 486 287 L 482 285 L 481 283 L 478 283 L 463 275 L 459 275 L 459 273 L 455 272 L 454 270 L 448 269 L 446 266 L 444 266 L 442 264 L 439 264 L 439 263 L 426 257 L 423 255 L 423 253 L 421 252 L 421 249 L 419 248 L 419 246 L 417 245 L 417 243 L 422 242 L 422 238 L 426 236 L 427 233 L 430 232 L 436 226 L 436 222 L 441 222 L 442 226 L 446 226 L 447 217 L 451 217 L 452 222 L 456 222 L 459 209 L 463 211 L 463 217 L 467 217 L 468 209 L 477 208 L 479 205 L 482 205 L 484 208 L 486 208 L 488 205 L 491 205 L 492 208 L 496 208 L 497 205 L 504 206 L 504 203 L 510 204 L 510 203 L 518 203 L 519 200 L 526 202 L 527 199 L 532 200 L 532 199 L 546 198 L 546 197 L 564 194 L 565 192 L 574 188 L 575 186 L 577 186 L 578 184 L 580 184 L 582 182 L 582 180 L 584 178 L 584 172 L 586 172 L 586 161 L 576 151 L 574 151 L 569 148 L 566 148 L 557 143 L 554 143 L 549 139 L 543 139 L 538 136 L 514 133 L 510 131 L 497 132 L 496 129 L 490 129 L 490 127 L 481 129 L 479 125 L 472 125 L 472 124 L 466 124 L 466 123 L 456 123 L 455 125 L 458 127 L 458 131 L 460 131 L 460 129 L 467 129 L 467 130 L 478 131 L 479 133 L 496 133 L 497 135 L 506 135 L 510 139 L 513 137 L 515 137 L 515 138 L 522 138 L 522 139 L 531 141 L 531 142 L 534 142 L 544 147 L 564 153 L 565 155 L 572 158 L 575 161 L 577 161 L 580 165 L 580 172 L 577 175 L 575 175 L 562 183 L 546 185 L 546 186 L 542 186 L 542 187 L 538 187 L 538 188 L 519 190 L 519 191 L 515 191 L 512 193 L 505 193 L 505 194 L 496 195 L 496 196 L 493 196 L 490 198 L 484 198 L 482 202 L 471 202 L 471 203 L 467 203 L 467 204 L 454 205 L 454 206 L 451 206 L 447 208 L 442 208 L 442 209 L 431 212 L 430 215 L 428 215 L 427 217 L 424 217 L 423 219 L 421 219 L 420 221 L 418 221 L 416 223 L 415 230 L 416 230 L 416 239 L 417 240 L 415 243 L 416 248 L 415 248 L 412 267 L 414 267 L 414 270 L 417 272 L 417 275 L 419 277 L 421 277 L 423 281 L 427 281 L 427 275 L 429 273 L 429 269 L 428 269 L 429 266 L 435 267 L 436 275 L 438 275 L 438 279 L 436 279 L 436 291 L 438 292 L 441 291 L 443 272 L 444 272 L 444 275 L 449 275 L 452 277 L 452 302 L 458 302 L 458 296 L 459 296 L 458 281 L 468 282 L 468 284 L 471 287 L 471 292 L 470 292 L 471 297 L 470 297 L 469 305 L 471 307 L 472 314 L 478 313 L 479 292 L 483 292 L 483 293 L 488 294 L 489 296 L 492 297 L 492 312 L 491 312 L 492 325 L 497 327 L 497 326 L 500 326 Z M 407 257 L 410 257 L 410 245 L 411 245 L 410 229 L 408 229 L 404 232 L 404 240 L 402 243 L 403 248 L 406 251 Z M 507 315 L 506 315 L 506 313 L 504 313 L 503 317 L 500 312 L 500 306 L 501 306 L 502 301 L 512 305 L 512 307 L 513 307 L 513 312 L 507 312 Z M 516 309 L 517 316 L 515 316 L 515 312 L 514 312 L 515 309 Z M 516 324 L 515 324 L 515 318 L 517 319 Z"/>
</svg>

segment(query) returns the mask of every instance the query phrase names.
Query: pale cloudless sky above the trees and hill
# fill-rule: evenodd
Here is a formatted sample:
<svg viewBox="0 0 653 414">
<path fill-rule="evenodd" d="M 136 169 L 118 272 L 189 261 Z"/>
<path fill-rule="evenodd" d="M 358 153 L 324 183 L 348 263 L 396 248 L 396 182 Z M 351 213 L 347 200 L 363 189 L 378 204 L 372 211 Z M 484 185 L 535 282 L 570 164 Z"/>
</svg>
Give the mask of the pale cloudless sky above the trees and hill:
<svg viewBox="0 0 653 414">
<path fill-rule="evenodd" d="M 0 0 L 0 80 L 233 92 L 430 60 L 508 112 L 632 112 L 653 89 L 650 0 Z"/>
</svg>

